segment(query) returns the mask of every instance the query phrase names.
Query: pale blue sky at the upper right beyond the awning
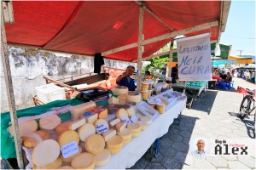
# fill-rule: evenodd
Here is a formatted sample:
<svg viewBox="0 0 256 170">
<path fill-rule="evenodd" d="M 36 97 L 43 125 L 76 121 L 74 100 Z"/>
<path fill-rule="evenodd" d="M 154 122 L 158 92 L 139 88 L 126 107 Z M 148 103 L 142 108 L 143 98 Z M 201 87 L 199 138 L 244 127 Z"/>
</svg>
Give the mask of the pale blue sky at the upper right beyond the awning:
<svg viewBox="0 0 256 170">
<path fill-rule="evenodd" d="M 255 55 L 255 1 L 231 1 L 220 43 L 232 45 L 230 55 Z"/>
</svg>

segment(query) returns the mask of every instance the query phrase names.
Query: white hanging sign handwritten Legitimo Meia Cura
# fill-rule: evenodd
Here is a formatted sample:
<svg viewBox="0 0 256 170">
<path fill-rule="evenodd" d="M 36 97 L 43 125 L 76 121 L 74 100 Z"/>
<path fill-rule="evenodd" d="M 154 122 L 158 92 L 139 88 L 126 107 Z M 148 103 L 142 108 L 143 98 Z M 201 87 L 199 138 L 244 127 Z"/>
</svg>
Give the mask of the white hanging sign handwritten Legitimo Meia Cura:
<svg viewBox="0 0 256 170">
<path fill-rule="evenodd" d="M 210 34 L 177 40 L 177 65 L 180 81 L 212 79 Z"/>
</svg>

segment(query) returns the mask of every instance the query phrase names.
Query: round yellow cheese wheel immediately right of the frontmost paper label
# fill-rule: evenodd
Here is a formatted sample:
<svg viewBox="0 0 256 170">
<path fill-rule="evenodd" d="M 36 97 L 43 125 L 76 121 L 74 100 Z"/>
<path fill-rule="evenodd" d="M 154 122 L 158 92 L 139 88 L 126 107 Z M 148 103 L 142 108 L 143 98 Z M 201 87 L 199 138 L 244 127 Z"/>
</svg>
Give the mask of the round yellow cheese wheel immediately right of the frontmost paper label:
<svg viewBox="0 0 256 170">
<path fill-rule="evenodd" d="M 85 150 L 98 155 L 101 154 L 105 148 L 105 140 L 100 134 L 93 134 L 85 140 Z"/>
</svg>

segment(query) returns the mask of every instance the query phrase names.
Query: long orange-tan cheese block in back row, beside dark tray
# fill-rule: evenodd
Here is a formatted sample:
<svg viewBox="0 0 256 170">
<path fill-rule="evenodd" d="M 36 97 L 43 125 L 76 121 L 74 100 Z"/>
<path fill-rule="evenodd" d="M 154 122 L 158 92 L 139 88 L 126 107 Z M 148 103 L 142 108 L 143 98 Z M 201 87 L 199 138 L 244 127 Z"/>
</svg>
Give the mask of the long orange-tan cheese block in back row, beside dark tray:
<svg viewBox="0 0 256 170">
<path fill-rule="evenodd" d="M 70 110 L 73 121 L 79 120 L 79 118 L 84 114 L 84 112 L 86 112 L 88 109 L 93 109 L 95 107 L 96 107 L 95 102 L 87 102 L 81 105 L 73 106 L 73 108 L 71 108 Z"/>
</svg>

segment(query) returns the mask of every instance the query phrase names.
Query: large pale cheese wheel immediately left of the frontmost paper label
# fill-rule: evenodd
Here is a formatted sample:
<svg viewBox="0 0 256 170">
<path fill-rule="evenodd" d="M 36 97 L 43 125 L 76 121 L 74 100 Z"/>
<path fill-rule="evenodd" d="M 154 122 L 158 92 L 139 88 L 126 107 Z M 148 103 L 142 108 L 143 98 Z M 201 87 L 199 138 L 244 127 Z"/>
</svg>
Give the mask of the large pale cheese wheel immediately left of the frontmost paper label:
<svg viewBox="0 0 256 170">
<path fill-rule="evenodd" d="M 60 155 L 60 145 L 53 139 L 46 139 L 38 144 L 32 152 L 32 162 L 44 166 L 55 161 Z"/>
</svg>

